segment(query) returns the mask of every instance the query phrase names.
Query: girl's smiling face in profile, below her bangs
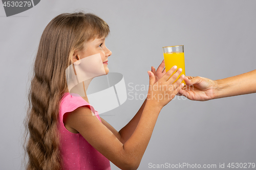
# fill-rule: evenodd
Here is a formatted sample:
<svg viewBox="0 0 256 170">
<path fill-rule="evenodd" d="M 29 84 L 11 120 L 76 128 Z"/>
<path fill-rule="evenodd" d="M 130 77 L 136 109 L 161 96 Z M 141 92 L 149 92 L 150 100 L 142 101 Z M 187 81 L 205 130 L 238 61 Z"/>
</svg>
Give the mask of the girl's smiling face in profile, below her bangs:
<svg viewBox="0 0 256 170">
<path fill-rule="evenodd" d="M 89 40 L 88 42 L 86 42 L 85 46 L 86 47 L 82 52 L 78 52 L 78 56 L 80 57 L 80 59 L 99 53 L 105 72 L 106 74 L 108 74 L 108 64 L 104 62 L 108 61 L 108 57 L 111 56 L 112 52 L 105 46 L 105 38 L 95 38 L 94 40 Z"/>
</svg>

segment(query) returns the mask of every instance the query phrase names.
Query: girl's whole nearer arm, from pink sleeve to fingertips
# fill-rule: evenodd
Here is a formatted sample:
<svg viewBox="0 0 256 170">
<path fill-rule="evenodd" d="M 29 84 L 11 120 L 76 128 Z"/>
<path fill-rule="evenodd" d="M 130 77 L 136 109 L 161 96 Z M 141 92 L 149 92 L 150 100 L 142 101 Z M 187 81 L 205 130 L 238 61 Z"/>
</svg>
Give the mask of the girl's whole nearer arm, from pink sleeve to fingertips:
<svg viewBox="0 0 256 170">
<path fill-rule="evenodd" d="M 137 169 L 150 141 L 162 107 L 171 101 L 183 87 L 180 84 L 184 78 L 183 76 L 173 83 L 181 73 L 181 70 L 176 71 L 170 77 L 175 70 L 176 68 L 174 67 L 167 71 L 161 78 L 162 80 L 155 84 L 153 84 L 155 77 L 151 72 L 150 84 L 154 87 L 148 90 L 150 98 L 147 98 L 136 129 L 124 144 L 106 126 L 101 124 L 98 118 L 92 115 L 89 107 L 86 106 L 79 107 L 68 114 L 66 113 L 65 126 L 68 125 L 77 130 L 97 151 L 119 168 Z M 170 88 L 167 89 L 166 87 Z M 154 96 L 157 96 L 157 98 L 154 98 Z M 159 99 L 159 96 L 162 96 L 162 98 Z"/>
</svg>

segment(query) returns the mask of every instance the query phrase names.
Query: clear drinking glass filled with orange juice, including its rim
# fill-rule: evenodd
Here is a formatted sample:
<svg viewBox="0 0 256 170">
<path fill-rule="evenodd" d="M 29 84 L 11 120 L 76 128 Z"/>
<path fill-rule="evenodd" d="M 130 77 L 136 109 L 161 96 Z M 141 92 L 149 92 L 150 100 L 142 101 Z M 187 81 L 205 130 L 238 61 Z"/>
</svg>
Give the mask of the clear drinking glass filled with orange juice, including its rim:
<svg viewBox="0 0 256 170">
<path fill-rule="evenodd" d="M 177 69 L 182 68 L 180 76 L 185 75 L 184 45 L 164 46 L 163 58 L 166 72 L 173 66 L 177 65 Z M 175 80 L 175 82 L 179 79 L 179 77 Z M 185 84 L 184 80 L 182 83 Z"/>
</svg>

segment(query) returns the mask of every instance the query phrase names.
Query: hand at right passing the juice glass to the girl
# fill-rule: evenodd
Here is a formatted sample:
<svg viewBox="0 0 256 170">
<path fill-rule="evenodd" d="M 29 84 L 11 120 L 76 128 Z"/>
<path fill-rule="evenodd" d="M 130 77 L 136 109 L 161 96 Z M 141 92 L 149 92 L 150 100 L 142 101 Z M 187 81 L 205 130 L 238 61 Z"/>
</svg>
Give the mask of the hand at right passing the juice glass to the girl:
<svg viewBox="0 0 256 170">
<path fill-rule="evenodd" d="M 185 77 L 186 85 L 180 90 L 178 95 L 184 95 L 193 101 L 207 101 L 214 99 L 216 82 L 203 77 Z"/>
</svg>

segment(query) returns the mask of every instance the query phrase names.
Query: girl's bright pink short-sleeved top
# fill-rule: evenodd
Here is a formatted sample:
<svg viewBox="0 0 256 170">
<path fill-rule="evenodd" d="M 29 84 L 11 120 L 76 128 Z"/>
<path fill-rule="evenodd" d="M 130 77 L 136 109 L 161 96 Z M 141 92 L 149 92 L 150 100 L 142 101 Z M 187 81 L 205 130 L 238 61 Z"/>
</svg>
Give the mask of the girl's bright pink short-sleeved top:
<svg viewBox="0 0 256 170">
<path fill-rule="evenodd" d="M 76 96 L 75 96 L 76 95 Z M 59 108 L 60 155 L 62 169 L 108 169 L 110 161 L 92 147 L 80 133 L 68 131 L 63 124 L 63 115 L 74 111 L 80 106 L 89 107 L 100 120 L 98 112 L 78 94 L 66 92 L 63 94 Z"/>
</svg>

